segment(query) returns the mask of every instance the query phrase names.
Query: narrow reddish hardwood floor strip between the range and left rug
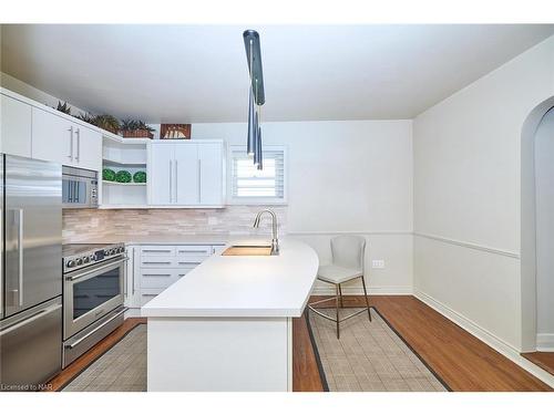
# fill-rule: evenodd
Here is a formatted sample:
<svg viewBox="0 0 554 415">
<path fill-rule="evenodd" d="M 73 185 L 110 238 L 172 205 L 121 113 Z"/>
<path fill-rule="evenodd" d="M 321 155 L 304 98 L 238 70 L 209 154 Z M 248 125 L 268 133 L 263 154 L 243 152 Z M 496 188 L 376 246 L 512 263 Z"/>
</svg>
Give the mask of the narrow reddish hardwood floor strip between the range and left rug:
<svg viewBox="0 0 554 415">
<path fill-rule="evenodd" d="M 146 323 L 146 319 L 133 318 L 127 319 L 125 322 L 89 350 L 81 357 L 71 363 L 60 374 L 53 377 L 49 383 L 51 388 L 45 390 L 50 392 L 60 391 L 68 382 L 86 369 L 98 357 L 109 351 L 115 343 L 117 343 L 126 333 L 133 330 L 137 324 Z"/>
</svg>

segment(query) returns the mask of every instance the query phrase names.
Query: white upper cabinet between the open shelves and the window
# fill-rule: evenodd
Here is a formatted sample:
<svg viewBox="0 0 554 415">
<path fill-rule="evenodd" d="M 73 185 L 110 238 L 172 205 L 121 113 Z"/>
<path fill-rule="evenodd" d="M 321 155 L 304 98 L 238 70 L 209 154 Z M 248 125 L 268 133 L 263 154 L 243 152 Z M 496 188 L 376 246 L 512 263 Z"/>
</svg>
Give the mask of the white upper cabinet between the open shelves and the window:
<svg viewBox="0 0 554 415">
<path fill-rule="evenodd" d="M 163 207 L 223 207 L 223 141 L 155 141 L 148 148 L 148 204 Z"/>
</svg>

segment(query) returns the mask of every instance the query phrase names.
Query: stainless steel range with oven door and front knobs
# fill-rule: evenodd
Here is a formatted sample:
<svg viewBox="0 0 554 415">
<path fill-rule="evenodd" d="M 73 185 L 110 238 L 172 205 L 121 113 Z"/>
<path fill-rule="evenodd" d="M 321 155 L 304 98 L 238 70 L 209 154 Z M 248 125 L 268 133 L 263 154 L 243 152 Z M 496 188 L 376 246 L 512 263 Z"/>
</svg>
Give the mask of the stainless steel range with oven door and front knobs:
<svg viewBox="0 0 554 415">
<path fill-rule="evenodd" d="M 123 323 L 125 246 L 63 246 L 63 367 Z"/>
</svg>

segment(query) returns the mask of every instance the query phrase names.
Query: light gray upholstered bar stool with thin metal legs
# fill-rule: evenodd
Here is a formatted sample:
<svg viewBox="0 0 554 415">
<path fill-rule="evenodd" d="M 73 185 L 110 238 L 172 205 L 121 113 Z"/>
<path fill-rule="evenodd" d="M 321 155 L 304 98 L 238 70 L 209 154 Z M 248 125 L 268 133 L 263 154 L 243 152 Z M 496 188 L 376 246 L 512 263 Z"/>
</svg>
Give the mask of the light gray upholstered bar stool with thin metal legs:
<svg viewBox="0 0 554 415">
<path fill-rule="evenodd" d="M 369 308 L 368 292 L 366 290 L 366 281 L 363 279 L 363 257 L 366 252 L 366 239 L 359 236 L 339 236 L 331 239 L 332 263 L 319 267 L 317 279 L 335 286 L 336 295 L 319 300 L 308 304 L 308 309 L 322 318 L 334 321 L 337 324 L 337 339 L 340 339 L 340 322 L 348 320 L 362 312 L 368 312 L 369 321 L 371 321 L 371 310 Z M 361 279 L 363 287 L 363 297 L 366 307 L 342 319 L 339 318 L 339 308 L 342 304 L 342 290 L 340 284 L 355 279 Z M 326 301 L 336 301 L 336 318 L 331 318 L 321 311 L 317 310 L 316 304 Z M 339 307 L 340 303 L 340 307 Z"/>
</svg>

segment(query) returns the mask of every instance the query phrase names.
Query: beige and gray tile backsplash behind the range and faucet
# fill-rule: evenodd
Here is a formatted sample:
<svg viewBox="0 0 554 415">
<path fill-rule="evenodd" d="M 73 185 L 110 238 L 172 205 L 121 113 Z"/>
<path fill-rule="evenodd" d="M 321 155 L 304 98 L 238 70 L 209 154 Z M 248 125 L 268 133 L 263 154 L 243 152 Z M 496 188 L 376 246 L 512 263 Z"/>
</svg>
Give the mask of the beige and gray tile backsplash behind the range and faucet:
<svg viewBox="0 0 554 415">
<path fill-rule="evenodd" d="M 224 209 L 64 209 L 63 243 L 84 242 L 110 236 L 147 235 L 269 235 L 271 220 L 254 229 L 263 206 L 228 206 Z M 279 218 L 279 234 L 286 234 L 287 208 L 271 207 Z"/>
</svg>

